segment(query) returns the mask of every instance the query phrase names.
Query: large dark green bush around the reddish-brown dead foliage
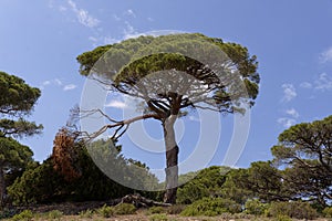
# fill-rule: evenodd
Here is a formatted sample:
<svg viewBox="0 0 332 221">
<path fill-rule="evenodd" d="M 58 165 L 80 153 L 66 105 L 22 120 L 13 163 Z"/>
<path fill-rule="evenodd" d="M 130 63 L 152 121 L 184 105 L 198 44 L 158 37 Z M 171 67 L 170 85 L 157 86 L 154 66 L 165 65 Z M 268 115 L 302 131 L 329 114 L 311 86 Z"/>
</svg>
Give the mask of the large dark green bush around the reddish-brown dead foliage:
<svg viewBox="0 0 332 221">
<path fill-rule="evenodd" d="M 87 148 L 92 148 L 93 151 Z M 68 179 L 68 175 L 61 173 L 62 170 L 54 169 L 54 158 L 51 156 L 40 166 L 25 170 L 8 188 L 8 193 L 15 206 L 63 201 L 102 201 L 134 193 L 133 189 L 118 185 L 103 173 L 94 164 L 89 151 L 94 152 L 96 155 L 94 157 L 104 157 L 105 159 L 102 158 L 101 162 L 104 164 L 106 160 L 105 167 L 122 172 L 126 179 L 137 177 L 137 180 L 135 178 L 137 187 L 158 183 L 157 178 L 147 168 L 144 168 L 144 164 L 129 161 L 118 152 L 120 149 L 117 146 L 113 147 L 111 141 L 105 140 L 95 141 L 87 147 L 76 144 L 73 152 L 77 156 L 75 156 L 72 167 L 80 171 L 77 172 L 80 176 Z M 144 191 L 141 193 L 147 194 Z M 156 194 L 149 193 L 149 197 L 154 198 Z"/>
</svg>

